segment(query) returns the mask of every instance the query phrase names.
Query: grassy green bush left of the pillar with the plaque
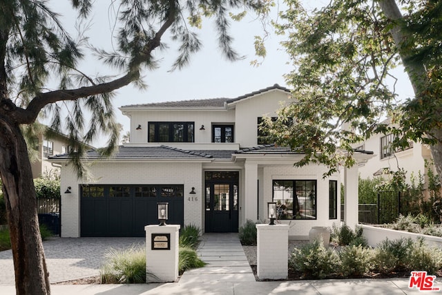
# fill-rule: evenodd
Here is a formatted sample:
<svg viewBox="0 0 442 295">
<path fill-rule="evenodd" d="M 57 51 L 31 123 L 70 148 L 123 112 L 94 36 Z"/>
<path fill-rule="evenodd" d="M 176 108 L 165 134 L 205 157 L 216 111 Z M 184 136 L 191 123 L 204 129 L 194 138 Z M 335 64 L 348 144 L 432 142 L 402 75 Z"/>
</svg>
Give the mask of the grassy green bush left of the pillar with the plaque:
<svg viewBox="0 0 442 295">
<path fill-rule="evenodd" d="M 100 269 L 102 283 L 146 283 L 146 249 L 132 245 L 127 249 L 110 249 Z"/>
</svg>

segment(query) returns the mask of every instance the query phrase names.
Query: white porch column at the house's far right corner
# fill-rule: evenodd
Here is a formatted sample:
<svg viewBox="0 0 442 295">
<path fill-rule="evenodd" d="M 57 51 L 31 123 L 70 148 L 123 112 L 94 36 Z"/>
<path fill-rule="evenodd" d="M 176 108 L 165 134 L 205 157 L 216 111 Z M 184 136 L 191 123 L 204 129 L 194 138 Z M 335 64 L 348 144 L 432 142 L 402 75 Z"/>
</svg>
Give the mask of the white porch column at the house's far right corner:
<svg viewBox="0 0 442 295">
<path fill-rule="evenodd" d="M 351 229 L 356 229 L 358 218 L 358 165 L 344 170 L 344 222 Z"/>
</svg>

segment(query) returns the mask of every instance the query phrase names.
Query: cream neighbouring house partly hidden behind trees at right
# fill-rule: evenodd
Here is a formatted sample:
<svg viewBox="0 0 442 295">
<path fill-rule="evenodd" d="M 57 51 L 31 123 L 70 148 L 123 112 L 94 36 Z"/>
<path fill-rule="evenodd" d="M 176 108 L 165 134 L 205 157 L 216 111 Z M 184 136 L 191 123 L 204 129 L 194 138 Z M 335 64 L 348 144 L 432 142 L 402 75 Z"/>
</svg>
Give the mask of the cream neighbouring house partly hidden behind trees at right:
<svg viewBox="0 0 442 295">
<path fill-rule="evenodd" d="M 384 123 L 388 122 L 388 120 L 385 120 Z M 355 149 L 374 151 L 376 155 L 376 157 L 360 165 L 361 178 L 373 179 L 378 176 L 387 178 L 390 172 L 404 169 L 407 172 L 407 182 L 410 183 L 412 174 L 416 177 L 419 171 L 422 175 L 426 173 L 425 160 L 429 164 L 432 161 L 429 147 L 421 142 L 410 142 L 406 149 L 393 150 L 391 147 L 393 140 L 394 135 L 392 134 L 375 134 L 365 142 L 354 146 Z M 431 167 L 435 171 L 434 165 L 431 164 Z"/>
</svg>

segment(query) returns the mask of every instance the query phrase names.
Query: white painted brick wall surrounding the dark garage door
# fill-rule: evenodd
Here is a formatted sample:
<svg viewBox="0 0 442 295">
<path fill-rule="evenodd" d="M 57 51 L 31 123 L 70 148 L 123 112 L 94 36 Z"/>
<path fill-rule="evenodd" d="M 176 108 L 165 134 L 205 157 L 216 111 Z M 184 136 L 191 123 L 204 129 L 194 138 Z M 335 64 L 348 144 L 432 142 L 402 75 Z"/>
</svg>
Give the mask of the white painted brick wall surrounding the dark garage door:
<svg viewBox="0 0 442 295">
<path fill-rule="evenodd" d="M 61 236 L 79 237 L 79 184 L 184 184 L 184 225 L 202 226 L 202 164 L 191 162 L 95 162 L 94 180 L 77 180 L 70 166 L 61 169 Z M 71 187 L 69 194 L 64 194 Z M 195 187 L 196 194 L 189 195 Z M 189 200 L 190 198 L 190 200 Z M 193 199 L 192 199 L 193 198 Z"/>
</svg>

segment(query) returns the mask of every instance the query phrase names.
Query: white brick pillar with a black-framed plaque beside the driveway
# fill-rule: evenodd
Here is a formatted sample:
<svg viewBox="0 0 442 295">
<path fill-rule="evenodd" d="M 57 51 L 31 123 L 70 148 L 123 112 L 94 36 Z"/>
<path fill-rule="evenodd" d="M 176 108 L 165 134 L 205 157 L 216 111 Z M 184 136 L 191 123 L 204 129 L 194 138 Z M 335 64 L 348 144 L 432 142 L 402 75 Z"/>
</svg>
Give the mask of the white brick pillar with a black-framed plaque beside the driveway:
<svg viewBox="0 0 442 295">
<path fill-rule="evenodd" d="M 146 225 L 146 283 L 174 282 L 178 278 L 180 225 Z"/>
</svg>

